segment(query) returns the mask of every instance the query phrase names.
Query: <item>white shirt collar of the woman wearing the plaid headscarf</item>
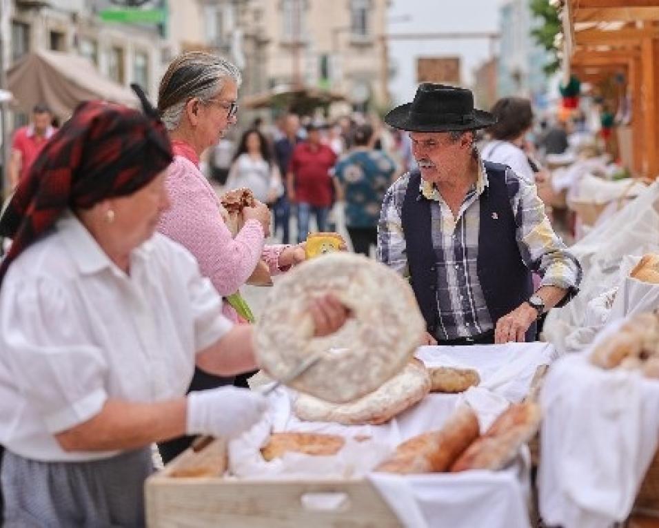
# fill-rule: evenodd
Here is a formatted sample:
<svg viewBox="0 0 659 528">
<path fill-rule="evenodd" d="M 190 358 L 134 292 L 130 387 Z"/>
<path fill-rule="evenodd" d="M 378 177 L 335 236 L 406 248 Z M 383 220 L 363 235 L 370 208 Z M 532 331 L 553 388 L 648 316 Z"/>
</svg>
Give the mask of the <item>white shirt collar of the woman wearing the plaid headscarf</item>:
<svg viewBox="0 0 659 528">
<path fill-rule="evenodd" d="M 112 269 L 114 273 L 119 273 L 125 277 L 125 273 L 110 260 L 110 257 L 72 211 L 65 211 L 55 225 L 81 273 L 93 275 L 104 269 Z M 131 265 L 137 261 L 145 260 L 152 250 L 153 243 L 151 240 L 135 248 L 130 254 Z"/>
</svg>

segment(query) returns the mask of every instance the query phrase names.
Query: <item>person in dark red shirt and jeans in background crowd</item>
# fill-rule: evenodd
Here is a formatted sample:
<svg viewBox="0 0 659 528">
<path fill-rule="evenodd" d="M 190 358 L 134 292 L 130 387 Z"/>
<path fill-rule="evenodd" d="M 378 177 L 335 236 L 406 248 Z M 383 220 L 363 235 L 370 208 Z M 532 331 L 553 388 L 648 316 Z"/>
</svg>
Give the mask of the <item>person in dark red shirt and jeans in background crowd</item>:
<svg viewBox="0 0 659 528">
<path fill-rule="evenodd" d="M 298 206 L 298 242 L 305 240 L 309 233 L 312 213 L 318 231 L 325 231 L 333 199 L 329 170 L 335 163 L 336 154 L 321 143 L 318 126 L 307 126 L 307 139 L 295 146 L 286 175 L 288 199 Z"/>
</svg>

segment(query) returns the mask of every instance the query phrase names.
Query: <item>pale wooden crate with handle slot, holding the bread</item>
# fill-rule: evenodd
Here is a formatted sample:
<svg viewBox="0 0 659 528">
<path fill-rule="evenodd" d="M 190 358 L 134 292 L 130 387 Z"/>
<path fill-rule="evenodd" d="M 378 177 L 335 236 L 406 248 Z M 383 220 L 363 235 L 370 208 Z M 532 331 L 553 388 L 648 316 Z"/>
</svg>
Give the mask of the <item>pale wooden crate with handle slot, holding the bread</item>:
<svg viewBox="0 0 659 528">
<path fill-rule="evenodd" d="M 146 518 L 150 528 L 389 528 L 401 527 L 368 480 L 234 480 L 221 475 L 176 477 L 196 473 L 207 449 L 185 451 L 146 482 Z M 226 464 L 226 458 L 223 459 Z M 201 464 L 203 465 L 203 463 Z M 312 500 L 331 494 L 332 509 L 317 509 Z"/>
</svg>

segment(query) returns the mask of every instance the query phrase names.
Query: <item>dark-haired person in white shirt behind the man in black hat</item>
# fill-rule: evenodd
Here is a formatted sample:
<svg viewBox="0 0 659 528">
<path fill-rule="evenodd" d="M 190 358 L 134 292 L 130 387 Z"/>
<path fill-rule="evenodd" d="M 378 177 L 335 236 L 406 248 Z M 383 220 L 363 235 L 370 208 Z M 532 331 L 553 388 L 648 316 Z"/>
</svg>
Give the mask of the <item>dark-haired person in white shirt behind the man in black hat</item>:
<svg viewBox="0 0 659 528">
<path fill-rule="evenodd" d="M 486 129 L 489 141 L 481 150 L 483 159 L 509 166 L 527 182 L 536 181 L 536 177 L 545 178 L 545 171 L 540 173 L 540 166 L 530 156 L 525 139 L 533 126 L 529 99 L 503 97 L 496 101 L 490 113 L 496 117 L 496 123 Z"/>
</svg>

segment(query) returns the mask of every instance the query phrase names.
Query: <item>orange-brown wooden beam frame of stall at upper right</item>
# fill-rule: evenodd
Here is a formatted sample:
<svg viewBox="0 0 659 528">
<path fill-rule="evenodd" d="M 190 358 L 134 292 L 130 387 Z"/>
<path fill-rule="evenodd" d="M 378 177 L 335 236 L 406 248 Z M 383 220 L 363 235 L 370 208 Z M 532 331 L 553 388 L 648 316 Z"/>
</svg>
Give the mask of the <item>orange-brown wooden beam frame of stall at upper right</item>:
<svg viewBox="0 0 659 528">
<path fill-rule="evenodd" d="M 659 177 L 659 0 L 562 4 L 563 32 L 569 35 L 565 65 L 602 89 L 610 86 L 611 77 L 623 74 L 622 93 L 631 98 L 630 168 L 636 175 Z M 580 28 L 584 22 L 591 24 Z"/>
</svg>

